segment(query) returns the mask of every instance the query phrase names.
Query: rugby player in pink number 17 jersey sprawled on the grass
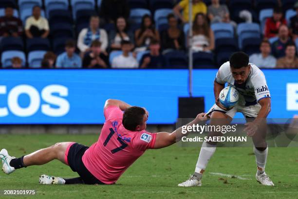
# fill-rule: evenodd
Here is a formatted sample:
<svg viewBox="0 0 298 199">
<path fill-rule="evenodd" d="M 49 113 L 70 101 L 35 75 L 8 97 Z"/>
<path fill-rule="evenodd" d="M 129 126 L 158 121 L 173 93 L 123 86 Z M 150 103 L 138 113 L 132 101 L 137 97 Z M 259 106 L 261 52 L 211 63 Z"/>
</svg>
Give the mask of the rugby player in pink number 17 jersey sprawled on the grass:
<svg viewBox="0 0 298 199">
<path fill-rule="evenodd" d="M 205 113 L 187 125 L 205 121 Z M 59 142 L 20 158 L 11 157 L 6 149 L 0 151 L 2 170 L 6 174 L 32 165 L 46 164 L 53 159 L 69 165 L 79 177 L 64 179 L 41 175 L 41 184 L 113 184 L 147 149 L 167 147 L 186 134 L 182 128 L 172 133 L 149 133 L 145 108 L 130 106 L 120 100 L 107 100 L 104 106 L 105 123 L 99 139 L 90 147 L 75 142 Z"/>
</svg>

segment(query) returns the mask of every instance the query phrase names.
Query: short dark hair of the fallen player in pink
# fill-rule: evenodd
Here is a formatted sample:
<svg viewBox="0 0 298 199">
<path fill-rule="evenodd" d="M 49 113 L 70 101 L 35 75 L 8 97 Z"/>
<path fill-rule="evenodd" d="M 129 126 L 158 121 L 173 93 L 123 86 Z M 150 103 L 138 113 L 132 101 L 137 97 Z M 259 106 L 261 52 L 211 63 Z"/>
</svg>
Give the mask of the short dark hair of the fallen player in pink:
<svg viewBox="0 0 298 199">
<path fill-rule="evenodd" d="M 135 131 L 137 125 L 141 125 L 146 114 L 144 108 L 132 106 L 126 109 L 123 113 L 122 124 L 124 128 L 130 131 Z"/>
</svg>

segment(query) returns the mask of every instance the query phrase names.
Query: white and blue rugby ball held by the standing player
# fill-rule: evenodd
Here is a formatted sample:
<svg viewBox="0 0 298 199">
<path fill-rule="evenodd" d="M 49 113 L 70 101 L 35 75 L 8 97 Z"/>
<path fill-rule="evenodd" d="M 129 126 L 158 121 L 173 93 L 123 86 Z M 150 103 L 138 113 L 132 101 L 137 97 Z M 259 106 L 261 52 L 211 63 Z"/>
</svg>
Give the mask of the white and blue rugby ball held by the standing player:
<svg viewBox="0 0 298 199">
<path fill-rule="evenodd" d="M 239 95 L 238 91 L 231 86 L 225 87 L 219 96 L 219 101 L 220 103 L 225 107 L 225 108 L 232 108 L 234 107 L 239 100 Z"/>
</svg>

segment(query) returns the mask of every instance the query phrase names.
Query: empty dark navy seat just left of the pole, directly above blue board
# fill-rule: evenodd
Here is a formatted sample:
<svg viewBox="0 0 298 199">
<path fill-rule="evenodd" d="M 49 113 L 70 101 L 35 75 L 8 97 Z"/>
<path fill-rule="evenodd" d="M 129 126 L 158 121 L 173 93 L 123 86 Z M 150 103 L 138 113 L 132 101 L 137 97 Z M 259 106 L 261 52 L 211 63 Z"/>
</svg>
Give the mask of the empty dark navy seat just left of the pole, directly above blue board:
<svg viewBox="0 0 298 199">
<path fill-rule="evenodd" d="M 187 57 L 183 51 L 170 51 L 164 57 L 167 68 L 188 68 Z"/>
</svg>

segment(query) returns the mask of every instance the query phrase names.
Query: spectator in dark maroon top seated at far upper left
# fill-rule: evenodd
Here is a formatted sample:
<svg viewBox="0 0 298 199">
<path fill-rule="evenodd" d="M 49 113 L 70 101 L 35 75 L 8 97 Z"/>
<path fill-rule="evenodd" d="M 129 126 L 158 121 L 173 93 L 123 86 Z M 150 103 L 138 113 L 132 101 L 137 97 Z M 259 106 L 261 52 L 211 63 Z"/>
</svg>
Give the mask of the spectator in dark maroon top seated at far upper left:
<svg viewBox="0 0 298 199">
<path fill-rule="evenodd" d="M 5 16 L 0 17 L 0 40 L 2 37 L 19 37 L 22 34 L 22 21 L 14 17 L 14 9 L 12 7 L 6 7 Z"/>
</svg>

